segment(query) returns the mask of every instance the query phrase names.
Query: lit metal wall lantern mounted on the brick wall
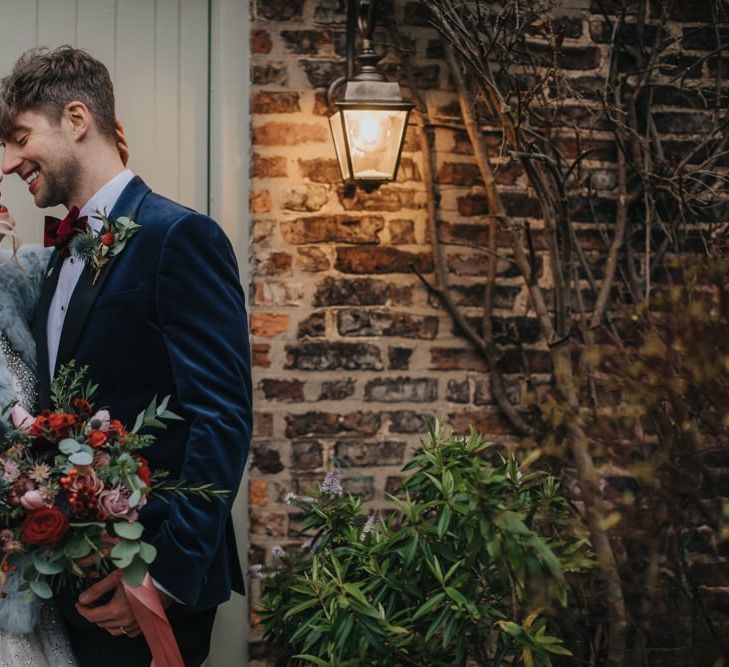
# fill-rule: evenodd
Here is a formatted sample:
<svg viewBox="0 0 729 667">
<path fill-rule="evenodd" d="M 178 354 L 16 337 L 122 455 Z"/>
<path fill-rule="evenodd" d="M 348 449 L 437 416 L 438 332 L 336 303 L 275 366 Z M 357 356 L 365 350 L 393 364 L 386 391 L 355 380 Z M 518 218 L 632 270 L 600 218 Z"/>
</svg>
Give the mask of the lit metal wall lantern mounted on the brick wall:
<svg viewBox="0 0 729 667">
<path fill-rule="evenodd" d="M 344 84 L 344 96 L 334 102 L 329 126 L 342 178 L 363 186 L 397 177 L 408 115 L 415 106 L 403 101 L 399 84 L 387 81 L 377 69 L 379 57 L 372 46 L 374 4 L 375 0 L 348 0 L 347 76 L 332 83 L 327 94 L 332 106 L 334 91 Z M 355 26 L 362 36 L 356 57 Z"/>
</svg>

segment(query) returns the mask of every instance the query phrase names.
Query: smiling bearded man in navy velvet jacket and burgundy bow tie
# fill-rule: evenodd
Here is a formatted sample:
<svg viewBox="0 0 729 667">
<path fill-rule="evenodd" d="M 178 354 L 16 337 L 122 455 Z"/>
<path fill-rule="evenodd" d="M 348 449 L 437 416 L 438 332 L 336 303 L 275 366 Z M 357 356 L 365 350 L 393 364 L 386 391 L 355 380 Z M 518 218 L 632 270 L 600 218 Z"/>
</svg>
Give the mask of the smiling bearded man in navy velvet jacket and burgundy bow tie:
<svg viewBox="0 0 729 667">
<path fill-rule="evenodd" d="M 251 434 L 243 292 L 222 229 L 125 170 L 114 121 L 109 73 L 83 51 L 29 51 L 0 83 L 3 172 L 26 181 L 39 207 L 66 206 L 69 229 L 88 216 L 98 230 L 96 211 L 140 226 L 97 274 L 46 223 L 56 251 L 36 315 L 39 394 L 48 407 L 54 373 L 75 359 L 99 384 L 97 405 L 126 424 L 153 396 L 171 395 L 169 409 L 184 420 L 145 450 L 150 467 L 230 491 L 225 502 L 152 500 L 140 516 L 157 549 L 150 575 L 185 664 L 199 665 L 217 605 L 231 589 L 243 592 L 230 517 Z M 103 243 L 118 247 L 114 234 Z M 149 665 L 118 572 L 80 596 L 64 591 L 61 610 L 82 667 Z"/>
</svg>

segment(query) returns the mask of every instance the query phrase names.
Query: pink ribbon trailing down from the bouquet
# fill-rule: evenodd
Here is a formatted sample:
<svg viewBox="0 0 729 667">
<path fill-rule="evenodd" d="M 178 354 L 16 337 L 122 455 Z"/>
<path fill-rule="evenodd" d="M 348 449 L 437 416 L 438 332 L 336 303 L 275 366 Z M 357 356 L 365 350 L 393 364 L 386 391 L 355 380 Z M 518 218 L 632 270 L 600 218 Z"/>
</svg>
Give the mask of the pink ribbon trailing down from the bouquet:
<svg viewBox="0 0 729 667">
<path fill-rule="evenodd" d="M 142 585 L 137 588 L 124 583 L 124 593 L 147 640 L 149 650 L 152 651 L 150 667 L 185 667 L 152 578 L 147 574 Z"/>
</svg>

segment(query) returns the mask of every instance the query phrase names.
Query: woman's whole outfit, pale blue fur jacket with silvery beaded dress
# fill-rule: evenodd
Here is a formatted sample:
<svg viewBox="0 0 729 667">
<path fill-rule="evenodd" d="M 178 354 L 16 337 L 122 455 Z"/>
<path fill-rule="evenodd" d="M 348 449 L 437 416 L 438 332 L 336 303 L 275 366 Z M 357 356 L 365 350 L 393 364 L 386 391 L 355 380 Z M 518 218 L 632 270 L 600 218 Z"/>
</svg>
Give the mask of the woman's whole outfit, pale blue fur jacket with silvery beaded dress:
<svg viewBox="0 0 729 667">
<path fill-rule="evenodd" d="M 14 400 L 31 414 L 36 408 L 35 342 L 31 331 L 48 251 L 21 248 L 0 253 L 0 408 Z M 0 598 L 0 667 L 75 666 L 63 621 L 53 602 L 28 604 L 9 573 Z M 4 629 L 3 629 L 4 628 Z M 17 631 L 13 631 L 17 630 Z"/>
</svg>

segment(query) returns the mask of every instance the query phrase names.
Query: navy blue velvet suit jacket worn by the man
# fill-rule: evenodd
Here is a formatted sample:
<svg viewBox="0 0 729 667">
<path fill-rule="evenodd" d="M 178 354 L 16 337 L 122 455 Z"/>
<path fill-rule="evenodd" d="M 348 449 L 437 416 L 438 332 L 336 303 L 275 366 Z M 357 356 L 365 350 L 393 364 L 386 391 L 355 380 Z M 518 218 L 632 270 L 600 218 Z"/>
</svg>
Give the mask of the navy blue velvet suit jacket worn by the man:
<svg viewBox="0 0 729 667">
<path fill-rule="evenodd" d="M 157 548 L 150 574 L 184 603 L 178 613 L 188 613 L 224 602 L 231 589 L 243 592 L 230 509 L 252 421 L 244 296 L 231 245 L 213 220 L 151 192 L 139 177 L 111 211 L 124 215 L 141 229 L 95 284 L 84 270 L 57 367 L 71 359 L 88 364 L 100 388 L 96 406 L 128 427 L 153 396 L 171 395 L 169 409 L 184 421 L 154 431 L 143 452 L 152 470 L 231 492 L 225 502 L 152 500 L 140 514 L 144 539 Z M 42 407 L 49 401 L 46 322 L 61 263 L 54 253 L 35 323 Z M 74 601 L 62 596 L 65 615 L 75 614 Z"/>
</svg>

